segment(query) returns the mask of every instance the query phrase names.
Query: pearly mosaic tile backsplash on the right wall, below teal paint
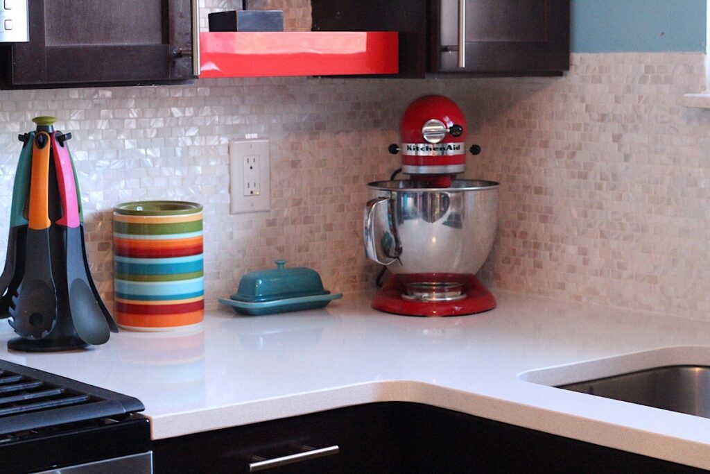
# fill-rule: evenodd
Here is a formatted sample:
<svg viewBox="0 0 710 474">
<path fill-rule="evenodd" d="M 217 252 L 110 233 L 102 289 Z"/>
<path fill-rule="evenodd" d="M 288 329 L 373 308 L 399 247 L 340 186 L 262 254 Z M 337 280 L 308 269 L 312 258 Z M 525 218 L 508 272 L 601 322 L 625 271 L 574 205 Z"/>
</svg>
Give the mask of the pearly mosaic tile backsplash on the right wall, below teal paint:
<svg viewBox="0 0 710 474">
<path fill-rule="evenodd" d="M 502 183 L 495 284 L 710 318 L 710 112 L 681 105 L 704 83 L 695 53 L 477 83 L 479 170 Z"/>
</svg>

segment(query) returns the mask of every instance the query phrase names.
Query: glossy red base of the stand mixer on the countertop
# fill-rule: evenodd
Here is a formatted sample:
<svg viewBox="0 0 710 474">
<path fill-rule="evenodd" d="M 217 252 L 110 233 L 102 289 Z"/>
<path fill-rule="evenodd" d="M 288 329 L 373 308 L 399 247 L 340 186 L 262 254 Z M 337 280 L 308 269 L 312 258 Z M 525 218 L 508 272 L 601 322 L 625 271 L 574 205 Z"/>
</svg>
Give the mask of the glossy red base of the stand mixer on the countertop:
<svg viewBox="0 0 710 474">
<path fill-rule="evenodd" d="M 462 275 L 465 297 L 457 301 L 412 301 L 402 297 L 406 292 L 400 277 L 393 275 L 386 281 L 372 301 L 372 307 L 386 313 L 403 316 L 464 316 L 483 313 L 496 307 L 496 298 L 475 275 Z"/>
</svg>

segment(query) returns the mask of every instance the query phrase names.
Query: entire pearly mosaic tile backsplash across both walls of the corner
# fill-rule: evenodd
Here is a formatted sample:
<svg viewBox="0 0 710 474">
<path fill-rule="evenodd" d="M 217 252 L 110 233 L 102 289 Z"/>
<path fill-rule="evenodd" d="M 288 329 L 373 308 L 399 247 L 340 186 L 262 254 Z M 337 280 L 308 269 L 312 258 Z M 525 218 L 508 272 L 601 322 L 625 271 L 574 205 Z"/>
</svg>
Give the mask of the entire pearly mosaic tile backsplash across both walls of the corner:
<svg viewBox="0 0 710 474">
<path fill-rule="evenodd" d="M 236 2 L 241 3 L 241 2 Z M 307 30 L 309 2 L 283 8 Z M 234 1 L 204 0 L 209 10 Z M 700 54 L 575 54 L 564 77 L 199 80 L 192 85 L 0 91 L 0 257 L 20 144 L 39 114 L 72 131 L 94 278 L 111 301 L 111 208 L 126 200 L 204 204 L 207 306 L 246 271 L 283 257 L 334 291 L 371 288 L 361 245 L 368 181 L 410 100 L 445 94 L 484 152 L 466 175 L 501 181 L 494 287 L 709 318 L 710 112 Z M 228 143 L 271 140 L 271 212 L 229 214 Z"/>
</svg>

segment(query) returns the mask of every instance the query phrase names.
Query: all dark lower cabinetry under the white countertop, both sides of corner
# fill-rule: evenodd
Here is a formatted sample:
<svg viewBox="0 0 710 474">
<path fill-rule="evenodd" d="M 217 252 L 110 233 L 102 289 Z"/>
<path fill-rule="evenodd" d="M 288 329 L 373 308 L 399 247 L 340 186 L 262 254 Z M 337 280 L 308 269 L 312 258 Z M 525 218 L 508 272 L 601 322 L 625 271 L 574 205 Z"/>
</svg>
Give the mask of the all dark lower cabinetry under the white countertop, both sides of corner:
<svg viewBox="0 0 710 474">
<path fill-rule="evenodd" d="M 701 473 L 685 465 L 412 403 L 378 403 L 153 443 L 155 473 L 248 473 L 308 449 L 339 453 L 264 473 Z"/>
</svg>

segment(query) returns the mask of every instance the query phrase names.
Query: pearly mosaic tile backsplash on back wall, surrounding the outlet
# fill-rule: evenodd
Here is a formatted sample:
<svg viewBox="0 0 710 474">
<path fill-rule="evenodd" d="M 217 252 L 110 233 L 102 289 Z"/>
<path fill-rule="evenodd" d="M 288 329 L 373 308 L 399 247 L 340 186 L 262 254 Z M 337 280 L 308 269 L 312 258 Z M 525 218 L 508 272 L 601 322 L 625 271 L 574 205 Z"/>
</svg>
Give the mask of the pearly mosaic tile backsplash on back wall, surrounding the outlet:
<svg viewBox="0 0 710 474">
<path fill-rule="evenodd" d="M 111 208 L 126 200 L 194 200 L 205 207 L 208 306 L 245 271 L 289 264 L 320 271 L 329 289 L 369 281 L 359 239 L 365 183 L 397 160 L 398 114 L 431 82 L 307 78 L 202 80 L 195 85 L 0 91 L 0 235 L 31 118 L 53 114 L 70 141 L 82 186 L 89 261 L 111 299 Z M 436 87 L 435 87 L 436 88 Z M 271 212 L 229 214 L 230 139 L 271 140 Z M 4 258 L 2 246 L 2 257 Z"/>
</svg>

